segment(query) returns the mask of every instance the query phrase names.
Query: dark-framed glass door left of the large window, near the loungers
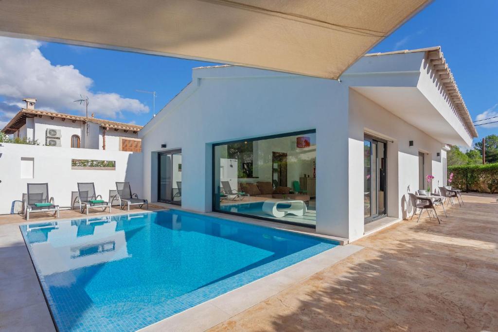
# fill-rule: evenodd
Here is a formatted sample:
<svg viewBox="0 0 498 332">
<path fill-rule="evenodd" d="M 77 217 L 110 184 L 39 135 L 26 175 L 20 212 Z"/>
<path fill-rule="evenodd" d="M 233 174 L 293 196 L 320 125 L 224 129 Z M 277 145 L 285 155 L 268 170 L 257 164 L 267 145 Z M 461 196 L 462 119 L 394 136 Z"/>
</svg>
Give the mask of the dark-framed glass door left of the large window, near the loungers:
<svg viewBox="0 0 498 332">
<path fill-rule="evenodd" d="M 158 156 L 157 201 L 181 204 L 182 151 L 161 152 Z"/>
</svg>

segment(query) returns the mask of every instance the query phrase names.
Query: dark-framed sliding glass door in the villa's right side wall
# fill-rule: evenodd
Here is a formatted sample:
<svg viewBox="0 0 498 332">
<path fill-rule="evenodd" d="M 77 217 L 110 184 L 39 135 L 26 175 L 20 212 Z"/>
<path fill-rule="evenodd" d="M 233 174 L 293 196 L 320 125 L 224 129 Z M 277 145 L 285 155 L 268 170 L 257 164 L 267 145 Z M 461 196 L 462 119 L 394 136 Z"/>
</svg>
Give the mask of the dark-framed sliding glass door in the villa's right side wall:
<svg viewBox="0 0 498 332">
<path fill-rule="evenodd" d="M 386 215 L 387 143 L 365 135 L 364 139 L 365 223 Z"/>
</svg>

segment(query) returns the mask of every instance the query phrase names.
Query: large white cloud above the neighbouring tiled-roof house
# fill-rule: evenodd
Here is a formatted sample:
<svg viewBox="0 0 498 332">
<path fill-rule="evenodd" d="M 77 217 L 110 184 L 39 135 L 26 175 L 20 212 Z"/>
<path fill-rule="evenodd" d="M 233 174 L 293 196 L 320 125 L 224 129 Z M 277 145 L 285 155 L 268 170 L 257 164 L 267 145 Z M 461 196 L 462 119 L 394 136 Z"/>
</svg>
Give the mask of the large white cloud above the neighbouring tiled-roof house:
<svg viewBox="0 0 498 332">
<path fill-rule="evenodd" d="M 6 105 L 21 106 L 22 98 L 37 98 L 40 110 L 72 110 L 83 113 L 84 107 L 73 103 L 80 94 L 90 100 L 89 112 L 97 117 L 123 117 L 123 112 L 148 112 L 136 99 L 116 93 L 94 92 L 93 80 L 73 65 L 53 65 L 40 52 L 34 40 L 0 37 L 0 96 Z M 17 109 L 18 110 L 18 109 Z M 3 110 L 0 106 L 0 114 Z M 4 120 L 0 117 L 0 120 Z"/>
</svg>

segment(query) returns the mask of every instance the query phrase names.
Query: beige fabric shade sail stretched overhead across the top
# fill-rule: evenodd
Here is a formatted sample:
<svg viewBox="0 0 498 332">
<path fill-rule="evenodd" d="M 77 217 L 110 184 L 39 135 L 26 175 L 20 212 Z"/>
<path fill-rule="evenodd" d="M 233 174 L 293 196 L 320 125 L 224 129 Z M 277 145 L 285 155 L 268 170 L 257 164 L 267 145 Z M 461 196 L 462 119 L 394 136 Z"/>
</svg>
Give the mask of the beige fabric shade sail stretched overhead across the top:
<svg viewBox="0 0 498 332">
<path fill-rule="evenodd" d="M 0 34 L 337 79 L 428 0 L 1 0 Z"/>
</svg>

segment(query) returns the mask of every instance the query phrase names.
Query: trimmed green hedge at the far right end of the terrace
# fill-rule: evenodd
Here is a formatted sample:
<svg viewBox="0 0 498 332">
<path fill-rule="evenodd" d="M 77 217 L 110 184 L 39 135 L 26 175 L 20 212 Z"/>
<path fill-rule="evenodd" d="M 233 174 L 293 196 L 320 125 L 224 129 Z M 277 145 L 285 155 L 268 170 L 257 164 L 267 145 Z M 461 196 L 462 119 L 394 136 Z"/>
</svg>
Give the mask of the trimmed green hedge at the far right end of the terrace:
<svg viewBox="0 0 498 332">
<path fill-rule="evenodd" d="M 498 163 L 486 165 L 458 165 L 449 166 L 448 174 L 453 173 L 451 185 L 465 191 L 472 190 L 486 184 L 492 194 L 498 192 Z"/>
</svg>

